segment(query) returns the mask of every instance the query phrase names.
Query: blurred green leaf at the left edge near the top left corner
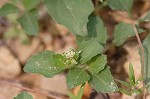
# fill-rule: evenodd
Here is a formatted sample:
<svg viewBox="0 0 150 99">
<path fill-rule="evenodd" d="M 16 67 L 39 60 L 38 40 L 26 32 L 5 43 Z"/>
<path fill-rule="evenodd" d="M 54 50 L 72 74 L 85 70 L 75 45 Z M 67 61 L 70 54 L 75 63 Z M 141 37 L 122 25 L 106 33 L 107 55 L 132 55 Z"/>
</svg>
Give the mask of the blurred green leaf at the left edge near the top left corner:
<svg viewBox="0 0 150 99">
<path fill-rule="evenodd" d="M 18 13 L 19 9 L 13 4 L 6 3 L 2 8 L 0 8 L 0 16 L 6 16 L 8 14 Z"/>
</svg>

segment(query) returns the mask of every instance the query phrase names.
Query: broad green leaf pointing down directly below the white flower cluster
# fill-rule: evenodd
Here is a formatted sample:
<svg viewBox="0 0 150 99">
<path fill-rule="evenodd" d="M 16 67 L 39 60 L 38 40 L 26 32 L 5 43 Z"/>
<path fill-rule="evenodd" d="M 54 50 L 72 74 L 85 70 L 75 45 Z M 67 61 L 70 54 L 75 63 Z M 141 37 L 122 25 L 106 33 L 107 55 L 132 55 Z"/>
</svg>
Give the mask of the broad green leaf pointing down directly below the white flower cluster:
<svg viewBox="0 0 150 99">
<path fill-rule="evenodd" d="M 68 88 L 74 88 L 90 79 L 90 75 L 82 68 L 72 68 L 67 74 Z"/>
</svg>

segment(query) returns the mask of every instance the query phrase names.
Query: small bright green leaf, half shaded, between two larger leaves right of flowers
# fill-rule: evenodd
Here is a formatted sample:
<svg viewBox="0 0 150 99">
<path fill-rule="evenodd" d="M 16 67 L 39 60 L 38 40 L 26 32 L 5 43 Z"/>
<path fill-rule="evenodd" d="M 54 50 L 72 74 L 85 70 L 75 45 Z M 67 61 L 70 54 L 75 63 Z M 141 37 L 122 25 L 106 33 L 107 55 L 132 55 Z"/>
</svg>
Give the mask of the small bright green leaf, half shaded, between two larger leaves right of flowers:
<svg viewBox="0 0 150 99">
<path fill-rule="evenodd" d="M 93 57 L 89 62 L 87 62 L 89 70 L 92 71 L 93 73 L 98 73 L 101 70 L 103 70 L 106 63 L 107 63 L 106 55 L 97 55 Z"/>
</svg>

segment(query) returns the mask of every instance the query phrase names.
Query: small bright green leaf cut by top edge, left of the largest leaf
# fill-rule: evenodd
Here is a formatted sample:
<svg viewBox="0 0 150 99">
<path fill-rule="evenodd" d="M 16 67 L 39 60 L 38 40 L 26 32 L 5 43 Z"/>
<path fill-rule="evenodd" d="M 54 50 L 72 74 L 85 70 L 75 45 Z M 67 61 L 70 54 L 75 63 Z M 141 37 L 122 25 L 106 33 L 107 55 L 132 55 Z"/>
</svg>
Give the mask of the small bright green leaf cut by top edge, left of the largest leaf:
<svg viewBox="0 0 150 99">
<path fill-rule="evenodd" d="M 34 9 L 41 0 L 23 0 L 23 5 L 27 11 Z"/>
</svg>

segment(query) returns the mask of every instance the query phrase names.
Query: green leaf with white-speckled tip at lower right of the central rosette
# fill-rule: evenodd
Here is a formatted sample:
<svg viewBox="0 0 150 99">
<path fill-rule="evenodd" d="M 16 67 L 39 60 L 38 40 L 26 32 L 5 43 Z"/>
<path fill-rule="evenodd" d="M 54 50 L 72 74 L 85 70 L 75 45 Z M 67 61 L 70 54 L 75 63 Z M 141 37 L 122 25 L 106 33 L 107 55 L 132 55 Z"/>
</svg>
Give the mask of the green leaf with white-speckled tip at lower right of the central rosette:
<svg viewBox="0 0 150 99">
<path fill-rule="evenodd" d="M 92 73 L 91 75 L 92 80 L 90 81 L 90 84 L 96 91 L 104 93 L 118 91 L 118 87 L 114 82 L 108 67 L 101 71 L 99 74 Z"/>
</svg>

